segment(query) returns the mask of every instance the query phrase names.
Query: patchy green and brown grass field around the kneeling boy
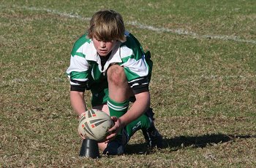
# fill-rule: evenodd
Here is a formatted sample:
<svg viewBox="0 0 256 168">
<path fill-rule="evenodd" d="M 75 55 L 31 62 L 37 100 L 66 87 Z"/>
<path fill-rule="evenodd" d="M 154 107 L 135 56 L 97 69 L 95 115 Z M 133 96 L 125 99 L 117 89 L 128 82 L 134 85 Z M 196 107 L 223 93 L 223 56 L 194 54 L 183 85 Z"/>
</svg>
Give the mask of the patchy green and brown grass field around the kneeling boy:
<svg viewBox="0 0 256 168">
<path fill-rule="evenodd" d="M 256 1 L 0 2 L 0 167 L 256 167 Z M 151 50 L 162 150 L 78 157 L 65 71 L 99 9 Z"/>
</svg>

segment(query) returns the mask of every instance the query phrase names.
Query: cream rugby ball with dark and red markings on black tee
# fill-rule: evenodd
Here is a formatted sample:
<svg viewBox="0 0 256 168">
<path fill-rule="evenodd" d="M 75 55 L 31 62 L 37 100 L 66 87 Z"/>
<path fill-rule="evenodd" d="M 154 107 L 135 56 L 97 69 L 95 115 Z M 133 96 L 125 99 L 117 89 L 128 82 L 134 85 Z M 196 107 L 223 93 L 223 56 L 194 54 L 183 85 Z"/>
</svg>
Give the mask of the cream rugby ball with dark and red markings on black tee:
<svg viewBox="0 0 256 168">
<path fill-rule="evenodd" d="M 113 125 L 114 123 L 107 113 L 91 109 L 81 114 L 78 132 L 82 137 L 102 142 L 109 135 L 108 129 Z"/>
</svg>

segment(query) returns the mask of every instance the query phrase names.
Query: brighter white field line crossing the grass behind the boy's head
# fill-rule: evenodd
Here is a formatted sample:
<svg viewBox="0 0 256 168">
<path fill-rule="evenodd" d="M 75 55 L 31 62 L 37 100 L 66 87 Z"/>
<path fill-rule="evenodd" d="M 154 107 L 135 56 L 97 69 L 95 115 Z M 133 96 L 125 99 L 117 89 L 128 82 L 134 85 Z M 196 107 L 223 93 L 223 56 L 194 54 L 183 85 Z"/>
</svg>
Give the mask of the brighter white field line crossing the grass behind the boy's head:
<svg viewBox="0 0 256 168">
<path fill-rule="evenodd" d="M 4 6 L 1 6 L 1 7 L 4 7 Z M 76 18 L 78 20 L 88 21 L 88 20 L 91 19 L 89 17 L 82 17 L 80 15 L 69 14 L 69 13 L 66 13 L 66 12 L 59 12 L 59 11 L 54 10 L 54 9 L 26 7 L 26 6 L 23 6 L 23 7 L 13 6 L 13 7 L 19 8 L 19 9 L 27 9 L 27 10 L 31 10 L 31 11 L 46 11 L 46 12 L 51 13 L 51 14 L 60 15 L 62 17 Z M 127 24 L 128 25 L 134 25 L 135 27 L 141 28 L 141 29 L 155 31 L 155 32 L 158 32 L 158 33 L 166 32 L 166 33 L 175 33 L 175 34 L 178 34 L 178 35 L 192 36 L 192 38 L 195 38 L 195 39 L 219 39 L 219 40 L 223 40 L 223 41 L 236 41 L 236 42 L 246 42 L 246 43 L 256 44 L 255 40 L 240 39 L 240 37 L 238 37 L 238 36 L 210 35 L 210 34 L 200 35 L 200 34 L 197 34 L 197 33 L 193 33 L 191 31 L 186 31 L 182 28 L 178 28 L 178 29 L 156 28 L 156 27 L 151 26 L 151 25 L 143 25 L 141 23 L 137 23 L 136 21 L 127 22 Z"/>
</svg>

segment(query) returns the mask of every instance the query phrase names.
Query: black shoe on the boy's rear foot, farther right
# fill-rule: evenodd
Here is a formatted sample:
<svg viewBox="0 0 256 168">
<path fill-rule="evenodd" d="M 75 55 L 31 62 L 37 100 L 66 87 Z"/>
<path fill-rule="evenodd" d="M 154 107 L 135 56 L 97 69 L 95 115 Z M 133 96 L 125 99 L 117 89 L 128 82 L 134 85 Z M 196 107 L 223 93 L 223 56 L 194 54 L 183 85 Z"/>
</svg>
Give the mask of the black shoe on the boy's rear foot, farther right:
<svg viewBox="0 0 256 168">
<path fill-rule="evenodd" d="M 142 129 L 142 132 L 148 145 L 148 148 L 163 148 L 162 135 L 159 134 L 157 128 L 154 126 L 154 113 L 152 111 L 152 108 L 148 109 L 146 115 L 151 121 L 151 127 L 149 127 L 148 129 Z"/>
</svg>

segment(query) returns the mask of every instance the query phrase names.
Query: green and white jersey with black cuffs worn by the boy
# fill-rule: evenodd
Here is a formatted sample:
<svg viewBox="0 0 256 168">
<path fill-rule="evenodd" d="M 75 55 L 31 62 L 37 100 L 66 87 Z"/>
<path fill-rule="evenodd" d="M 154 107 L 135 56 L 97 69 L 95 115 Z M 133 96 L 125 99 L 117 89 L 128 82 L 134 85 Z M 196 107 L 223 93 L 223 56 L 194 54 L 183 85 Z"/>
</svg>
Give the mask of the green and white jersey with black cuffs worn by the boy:
<svg viewBox="0 0 256 168">
<path fill-rule="evenodd" d="M 150 55 L 146 58 L 140 43 L 131 33 L 126 32 L 125 36 L 127 41 L 118 41 L 105 65 L 101 64 L 92 40 L 88 39 L 86 34 L 81 36 L 74 44 L 67 69 L 71 90 L 84 92 L 85 89 L 91 89 L 93 96 L 105 96 L 101 92 L 108 89 L 106 72 L 113 64 L 124 67 L 129 86 L 135 94 L 141 92 L 138 91 L 141 88 L 148 89 L 148 77 L 151 74 Z"/>
</svg>

